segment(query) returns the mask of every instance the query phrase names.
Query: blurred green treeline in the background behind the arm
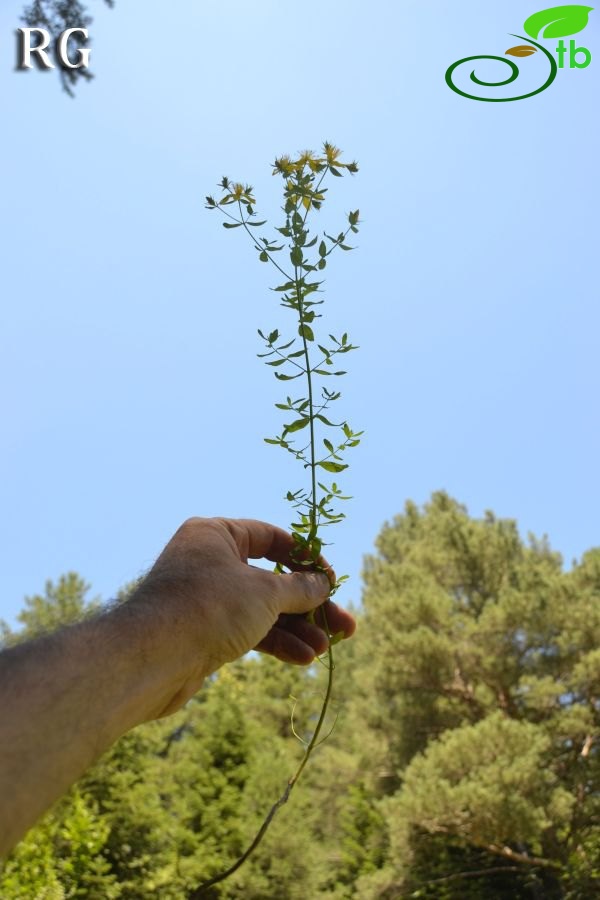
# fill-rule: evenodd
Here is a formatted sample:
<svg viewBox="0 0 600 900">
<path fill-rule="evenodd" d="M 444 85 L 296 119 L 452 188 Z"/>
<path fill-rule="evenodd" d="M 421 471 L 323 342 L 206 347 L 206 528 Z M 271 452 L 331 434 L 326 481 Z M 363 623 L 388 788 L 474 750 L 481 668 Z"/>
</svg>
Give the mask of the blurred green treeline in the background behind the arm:
<svg viewBox="0 0 600 900">
<path fill-rule="evenodd" d="M 89 590 L 74 573 L 47 582 L 3 642 L 93 614 Z M 443 492 L 406 503 L 365 560 L 335 728 L 212 896 L 597 895 L 599 598 L 600 549 L 565 572 L 512 520 L 472 518 Z M 81 779 L 6 861 L 0 896 L 185 898 L 277 799 L 302 753 L 292 706 L 302 737 L 323 675 L 256 655 L 221 669 Z"/>
</svg>

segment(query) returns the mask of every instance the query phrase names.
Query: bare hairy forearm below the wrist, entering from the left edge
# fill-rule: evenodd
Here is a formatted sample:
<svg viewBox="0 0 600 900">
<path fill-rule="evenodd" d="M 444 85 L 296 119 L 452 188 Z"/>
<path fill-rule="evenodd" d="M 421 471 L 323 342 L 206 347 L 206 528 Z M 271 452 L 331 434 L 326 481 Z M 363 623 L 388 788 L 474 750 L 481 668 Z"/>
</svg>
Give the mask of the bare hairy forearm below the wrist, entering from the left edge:
<svg viewBox="0 0 600 900">
<path fill-rule="evenodd" d="M 128 604 L 0 654 L 0 856 L 180 692 L 181 660 L 163 651 L 156 618 Z"/>
</svg>

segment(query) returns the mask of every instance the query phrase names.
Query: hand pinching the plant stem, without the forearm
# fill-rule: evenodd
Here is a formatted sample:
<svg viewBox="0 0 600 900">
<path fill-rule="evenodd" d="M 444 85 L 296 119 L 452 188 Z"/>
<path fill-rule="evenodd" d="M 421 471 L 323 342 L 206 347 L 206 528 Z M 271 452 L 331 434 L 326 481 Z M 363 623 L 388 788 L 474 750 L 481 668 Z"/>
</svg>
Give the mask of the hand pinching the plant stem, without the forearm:
<svg viewBox="0 0 600 900">
<path fill-rule="evenodd" d="M 318 560 L 327 575 L 307 572 L 292 561 L 294 546 L 291 535 L 266 522 L 221 518 L 188 519 L 167 544 L 134 600 L 160 608 L 173 652 L 193 659 L 196 670 L 200 665 L 202 674 L 192 679 L 185 699 L 198 680 L 252 649 L 308 665 L 327 650 L 329 639 L 302 613 L 323 604 L 320 619 L 326 616 L 328 631 L 353 634 L 353 617 L 327 600 L 335 582 L 327 561 Z M 292 572 L 277 575 L 248 564 L 260 558 Z"/>
</svg>

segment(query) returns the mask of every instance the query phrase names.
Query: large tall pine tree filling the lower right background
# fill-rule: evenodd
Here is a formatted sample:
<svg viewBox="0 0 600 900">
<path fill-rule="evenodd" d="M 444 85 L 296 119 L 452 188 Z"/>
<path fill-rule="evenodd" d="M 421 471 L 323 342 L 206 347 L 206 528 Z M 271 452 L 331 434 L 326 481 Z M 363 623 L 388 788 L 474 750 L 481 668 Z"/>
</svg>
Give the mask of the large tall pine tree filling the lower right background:
<svg viewBox="0 0 600 900">
<path fill-rule="evenodd" d="M 359 692 L 381 748 L 390 882 L 451 847 L 457 874 L 482 851 L 483 870 L 516 869 L 524 896 L 527 871 L 562 896 L 573 854 L 598 865 L 597 552 L 565 574 L 545 541 L 525 546 L 514 522 L 473 520 L 443 493 L 424 512 L 408 503 L 378 549 L 362 645 L 379 650 Z M 462 897 L 458 881 L 444 890 Z"/>
</svg>

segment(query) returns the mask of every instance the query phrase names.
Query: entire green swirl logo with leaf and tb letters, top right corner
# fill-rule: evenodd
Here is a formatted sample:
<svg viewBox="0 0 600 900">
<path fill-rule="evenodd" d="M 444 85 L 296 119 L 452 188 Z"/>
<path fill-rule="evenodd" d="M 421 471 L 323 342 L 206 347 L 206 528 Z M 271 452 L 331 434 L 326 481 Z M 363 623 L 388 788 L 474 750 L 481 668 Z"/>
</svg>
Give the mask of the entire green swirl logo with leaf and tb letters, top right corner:
<svg viewBox="0 0 600 900">
<path fill-rule="evenodd" d="M 467 91 L 462 90 L 455 84 L 453 80 L 454 73 L 459 66 L 462 66 L 464 63 L 474 63 L 481 59 L 491 59 L 502 63 L 504 66 L 508 66 L 510 75 L 502 81 L 483 81 L 481 78 L 477 77 L 475 69 L 473 69 L 470 78 L 474 84 L 486 88 L 497 88 L 512 84 L 517 80 L 519 77 L 519 67 L 516 63 L 512 62 L 512 60 L 505 59 L 505 56 L 489 55 L 465 56 L 463 59 L 459 59 L 455 63 L 452 63 L 446 70 L 446 84 L 455 94 L 466 97 L 468 100 L 480 100 L 484 103 L 510 103 L 514 100 L 526 100 L 528 97 L 535 97 L 536 94 L 541 94 L 542 91 L 545 91 L 546 88 L 550 87 L 556 78 L 558 70 L 565 68 L 565 60 L 567 58 L 569 68 L 571 69 L 585 69 L 589 66 L 592 61 L 592 54 L 587 47 L 577 47 L 574 40 L 569 41 L 569 45 L 567 46 L 562 38 L 583 31 L 588 23 L 588 16 L 592 9 L 593 7 L 591 6 L 553 6 L 551 9 L 543 9 L 540 12 L 534 13 L 525 20 L 523 28 L 529 36 L 530 43 L 511 47 L 509 50 L 505 51 L 505 56 L 532 56 L 540 50 L 546 56 L 546 59 L 550 64 L 548 77 L 541 87 L 538 87 L 533 91 L 528 91 L 528 93 L 525 94 L 519 94 L 516 97 L 479 97 L 476 94 L 470 94 Z M 528 38 L 519 34 L 512 34 L 511 37 L 516 37 L 523 41 L 528 40 Z M 531 40 L 532 38 L 538 37 L 561 38 L 561 40 L 559 40 L 554 53 L 552 53 L 546 47 L 542 46 L 542 44 L 538 44 L 535 40 Z M 532 44 L 533 46 L 531 46 Z"/>
</svg>

